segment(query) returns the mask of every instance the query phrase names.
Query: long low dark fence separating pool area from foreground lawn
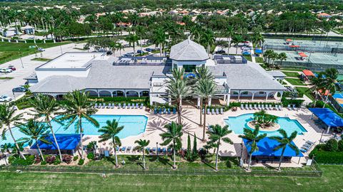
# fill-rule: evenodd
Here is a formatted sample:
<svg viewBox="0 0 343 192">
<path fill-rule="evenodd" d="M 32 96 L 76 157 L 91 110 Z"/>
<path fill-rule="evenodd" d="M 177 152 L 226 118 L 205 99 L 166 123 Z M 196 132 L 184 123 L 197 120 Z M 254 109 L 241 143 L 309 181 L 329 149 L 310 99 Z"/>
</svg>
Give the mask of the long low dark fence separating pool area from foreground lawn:
<svg viewBox="0 0 343 192">
<path fill-rule="evenodd" d="M 149 175 L 228 175 L 228 176 L 299 176 L 320 177 L 317 164 L 311 171 L 276 171 L 276 170 L 254 170 L 243 169 L 114 169 L 100 166 L 2 166 L 1 171 L 29 171 L 29 172 L 62 172 L 62 173 L 93 173 L 93 174 L 149 174 Z"/>
</svg>

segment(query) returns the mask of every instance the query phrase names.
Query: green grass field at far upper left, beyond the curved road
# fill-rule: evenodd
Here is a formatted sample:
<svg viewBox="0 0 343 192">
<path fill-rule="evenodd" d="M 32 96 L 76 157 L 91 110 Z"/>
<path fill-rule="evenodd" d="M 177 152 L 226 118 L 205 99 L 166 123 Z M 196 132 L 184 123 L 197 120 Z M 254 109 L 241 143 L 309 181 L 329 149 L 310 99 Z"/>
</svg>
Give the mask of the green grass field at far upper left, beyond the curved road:
<svg viewBox="0 0 343 192">
<path fill-rule="evenodd" d="M 65 41 L 62 43 L 36 43 L 39 48 L 51 48 L 54 46 L 60 46 L 70 41 Z M 26 55 L 39 53 L 36 48 L 29 48 L 29 46 L 35 46 L 34 43 L 9 43 L 0 42 L 0 64 L 6 63 L 10 60 L 14 60 Z M 20 51 L 19 51 L 20 49 Z"/>
</svg>

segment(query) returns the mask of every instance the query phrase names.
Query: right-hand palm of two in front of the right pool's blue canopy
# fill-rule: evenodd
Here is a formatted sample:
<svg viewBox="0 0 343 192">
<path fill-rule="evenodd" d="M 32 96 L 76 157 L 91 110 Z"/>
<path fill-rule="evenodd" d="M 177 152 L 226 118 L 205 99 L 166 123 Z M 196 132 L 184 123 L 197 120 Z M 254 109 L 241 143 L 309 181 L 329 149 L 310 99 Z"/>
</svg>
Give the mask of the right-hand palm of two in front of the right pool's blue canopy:
<svg viewBox="0 0 343 192">
<path fill-rule="evenodd" d="M 269 137 L 270 139 L 274 139 L 275 141 L 279 142 L 279 145 L 274 148 L 274 151 L 277 151 L 279 149 L 282 149 L 281 156 L 280 156 L 280 162 L 279 162 L 279 168 L 277 170 L 280 171 L 281 169 L 281 163 L 282 159 L 284 159 L 284 151 L 286 150 L 286 147 L 289 146 L 295 153 L 299 154 L 299 149 L 297 146 L 293 143 L 293 140 L 295 137 L 297 137 L 297 131 L 292 132 L 291 136 L 288 137 L 287 132 L 284 131 L 284 129 L 279 129 L 278 131 L 282 136 L 272 136 Z"/>
</svg>

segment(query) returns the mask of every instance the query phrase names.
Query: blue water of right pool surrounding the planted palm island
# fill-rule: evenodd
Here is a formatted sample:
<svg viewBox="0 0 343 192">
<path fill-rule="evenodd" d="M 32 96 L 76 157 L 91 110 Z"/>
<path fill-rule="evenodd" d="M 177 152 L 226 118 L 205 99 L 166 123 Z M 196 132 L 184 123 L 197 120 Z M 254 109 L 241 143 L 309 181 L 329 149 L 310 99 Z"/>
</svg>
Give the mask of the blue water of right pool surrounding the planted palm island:
<svg viewBox="0 0 343 192">
<path fill-rule="evenodd" d="M 229 125 L 229 129 L 235 134 L 243 134 L 244 128 L 249 128 L 248 122 L 254 119 L 254 114 L 242 114 L 237 117 L 228 117 L 228 119 L 224 119 L 225 123 Z M 292 134 L 292 132 L 297 131 L 298 134 L 303 134 L 307 132 L 307 130 L 302 127 L 297 120 L 289 119 L 288 117 L 279 117 L 278 124 L 280 125 L 281 129 L 284 129 L 288 135 Z M 267 133 L 267 136 L 280 136 L 279 132 L 277 131 L 260 131 L 261 134 Z"/>
</svg>

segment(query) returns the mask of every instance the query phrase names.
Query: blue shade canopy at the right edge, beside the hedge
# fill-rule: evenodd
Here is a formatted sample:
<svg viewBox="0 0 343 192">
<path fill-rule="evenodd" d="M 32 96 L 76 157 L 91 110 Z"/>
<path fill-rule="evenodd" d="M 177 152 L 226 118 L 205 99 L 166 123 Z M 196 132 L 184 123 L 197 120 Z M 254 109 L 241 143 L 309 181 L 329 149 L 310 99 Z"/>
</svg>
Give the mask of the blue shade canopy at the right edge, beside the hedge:
<svg viewBox="0 0 343 192">
<path fill-rule="evenodd" d="M 328 127 L 343 127 L 343 119 L 328 108 L 309 108 L 309 110 L 321 119 Z"/>
</svg>

